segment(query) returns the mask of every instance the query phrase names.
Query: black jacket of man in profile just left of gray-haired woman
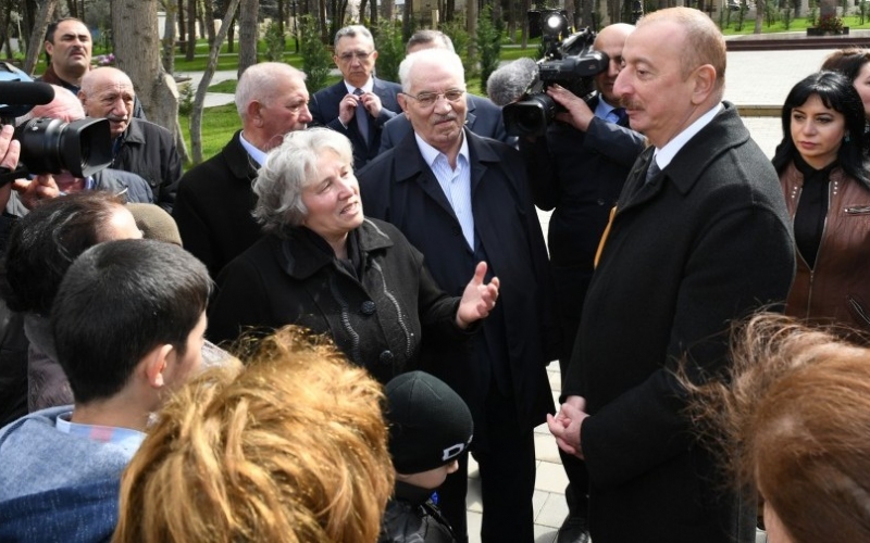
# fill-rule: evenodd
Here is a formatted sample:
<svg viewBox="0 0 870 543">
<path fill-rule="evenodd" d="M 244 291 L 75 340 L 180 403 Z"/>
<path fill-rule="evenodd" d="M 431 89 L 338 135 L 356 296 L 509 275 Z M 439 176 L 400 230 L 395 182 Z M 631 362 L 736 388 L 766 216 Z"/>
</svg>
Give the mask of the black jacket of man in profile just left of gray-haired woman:
<svg viewBox="0 0 870 543">
<path fill-rule="evenodd" d="M 212 278 L 261 237 L 251 216 L 258 165 L 241 147 L 240 134 L 182 177 L 172 212 L 184 248 L 206 264 Z"/>
</svg>

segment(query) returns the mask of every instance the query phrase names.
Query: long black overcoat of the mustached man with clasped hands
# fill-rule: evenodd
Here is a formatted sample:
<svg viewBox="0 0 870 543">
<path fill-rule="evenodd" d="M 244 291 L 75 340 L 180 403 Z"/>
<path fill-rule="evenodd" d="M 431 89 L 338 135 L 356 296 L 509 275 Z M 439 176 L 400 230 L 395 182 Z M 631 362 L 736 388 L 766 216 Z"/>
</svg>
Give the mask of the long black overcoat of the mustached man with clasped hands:
<svg viewBox="0 0 870 543">
<path fill-rule="evenodd" d="M 795 267 L 788 214 L 732 104 L 644 185 L 651 154 L 620 195 L 562 390 L 584 396 L 591 414 L 581 446 L 592 539 L 755 541 L 755 510 L 723 491 L 672 371 L 682 357 L 696 378 L 699 368 L 723 371 L 730 323 L 785 300 Z"/>
</svg>

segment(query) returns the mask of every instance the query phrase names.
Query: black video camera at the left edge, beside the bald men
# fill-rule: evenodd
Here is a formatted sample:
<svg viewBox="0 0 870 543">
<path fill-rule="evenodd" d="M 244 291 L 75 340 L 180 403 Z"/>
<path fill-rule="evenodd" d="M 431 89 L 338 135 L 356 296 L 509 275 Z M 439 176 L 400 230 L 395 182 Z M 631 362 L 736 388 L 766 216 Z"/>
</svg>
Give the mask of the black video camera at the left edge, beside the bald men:
<svg viewBox="0 0 870 543">
<path fill-rule="evenodd" d="M 36 83 L 15 66 L 0 62 L 0 125 L 15 124 L 36 105 L 54 99 L 54 89 Z M 14 171 L 0 167 L 0 186 L 29 174 L 60 174 L 88 177 L 112 162 L 109 119 L 82 118 L 64 123 L 57 118 L 32 118 L 15 128 L 21 159 Z"/>
</svg>

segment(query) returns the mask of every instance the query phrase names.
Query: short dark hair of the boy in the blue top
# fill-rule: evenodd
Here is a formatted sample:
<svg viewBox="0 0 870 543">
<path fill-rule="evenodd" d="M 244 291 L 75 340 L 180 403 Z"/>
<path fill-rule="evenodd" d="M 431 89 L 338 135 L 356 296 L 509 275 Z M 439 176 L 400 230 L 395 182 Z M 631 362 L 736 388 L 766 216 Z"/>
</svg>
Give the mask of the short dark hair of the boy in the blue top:
<svg viewBox="0 0 870 543">
<path fill-rule="evenodd" d="M 157 240 L 116 240 L 85 251 L 58 289 L 51 326 L 76 404 L 121 391 L 159 345 L 184 356 L 211 294 L 206 266 Z"/>
</svg>

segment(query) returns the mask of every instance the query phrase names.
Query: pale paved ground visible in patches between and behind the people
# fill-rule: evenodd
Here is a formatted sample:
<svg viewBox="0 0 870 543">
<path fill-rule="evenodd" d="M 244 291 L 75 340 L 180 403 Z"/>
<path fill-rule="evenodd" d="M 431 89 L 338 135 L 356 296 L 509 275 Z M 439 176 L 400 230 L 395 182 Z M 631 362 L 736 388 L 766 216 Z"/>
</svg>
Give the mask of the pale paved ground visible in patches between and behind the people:
<svg viewBox="0 0 870 543">
<path fill-rule="evenodd" d="M 744 108 L 778 108 L 785 100 L 792 86 L 818 70 L 822 60 L 830 52 L 831 50 L 730 52 L 728 53 L 725 99 Z M 201 78 L 201 74 L 185 75 L 191 77 L 194 85 L 198 85 Z M 212 85 L 235 77 L 235 71 L 217 72 L 212 79 Z M 206 104 L 212 106 L 232 101 L 233 94 L 210 93 Z M 744 122 L 765 153 L 772 156 L 782 138 L 780 118 L 744 115 Z M 539 217 L 546 232 L 549 214 L 539 212 Z M 558 364 L 550 365 L 548 375 L 554 399 L 558 401 L 560 391 Z M 535 429 L 535 450 L 537 457 L 537 481 L 534 494 L 535 541 L 536 543 L 552 543 L 556 540 L 556 530 L 568 513 L 564 503 L 567 478 L 559 460 L 556 442 L 547 431 L 546 425 Z M 471 543 L 480 542 L 481 513 L 483 510 L 480 496 L 477 469 L 472 460 L 468 496 Z"/>
</svg>

